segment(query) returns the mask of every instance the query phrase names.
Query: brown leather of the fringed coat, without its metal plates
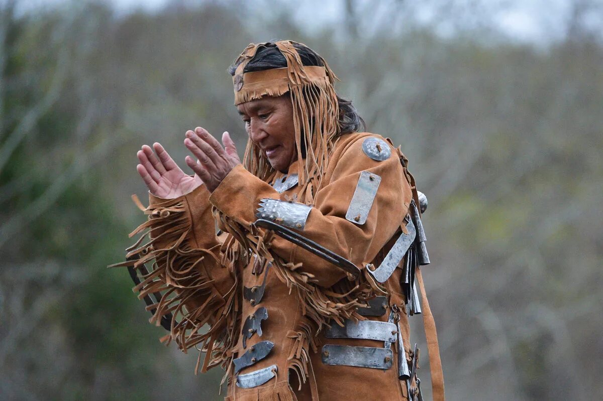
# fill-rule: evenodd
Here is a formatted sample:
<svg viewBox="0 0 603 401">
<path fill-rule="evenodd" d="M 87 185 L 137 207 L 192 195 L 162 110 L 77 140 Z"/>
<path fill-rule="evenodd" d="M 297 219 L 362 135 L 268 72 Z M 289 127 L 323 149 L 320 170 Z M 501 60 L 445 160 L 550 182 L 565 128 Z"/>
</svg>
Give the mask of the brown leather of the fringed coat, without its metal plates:
<svg viewBox="0 0 603 401">
<path fill-rule="evenodd" d="M 391 146 L 391 142 L 387 142 L 391 155 L 386 160 L 368 157 L 362 145 L 370 137 L 384 140 L 379 135 L 368 133 L 346 134 L 337 140 L 305 226 L 297 230 L 299 234 L 347 258 L 361 269 L 371 267 L 371 264 L 379 266 L 396 234 L 406 231 L 414 185 L 412 177 L 400 163 L 403 156 Z M 331 365 L 323 362 L 329 358 L 329 353 L 322 348 L 326 344 L 371 349 L 386 347 L 384 341 L 380 340 L 327 338 L 328 326 L 320 328 L 320 333 L 316 334 L 316 319 L 311 319 L 311 314 L 320 313 L 324 305 L 333 309 L 339 306 L 335 302 L 320 303 L 312 299 L 317 299 L 318 294 L 337 299 L 337 289 L 344 288 L 339 284 L 347 282 L 347 286 L 350 286 L 346 272 L 276 236 L 270 238 L 267 246 L 289 262 L 288 271 L 277 269 L 253 256 L 247 266 L 238 267 L 229 262 L 232 255 L 227 254 L 224 246 L 229 241 L 229 234 L 215 234 L 218 212 L 248 227 L 256 221 L 262 199 L 303 204 L 305 199 L 295 196 L 296 186 L 279 193 L 271 185 L 279 180 L 282 183 L 295 171 L 297 162 L 289 167 L 288 173 L 277 173 L 273 182 L 269 183 L 251 175 L 239 165 L 212 194 L 203 185 L 177 199 L 160 199 L 151 194 L 150 206 L 146 210 L 151 218 L 142 228 L 150 229 L 153 240 L 140 254 L 146 253 L 143 256 L 145 261 L 155 258 L 156 273 L 151 274 L 153 277 L 137 289 L 145 293 L 151 290 L 171 292 L 172 300 L 163 302 L 163 305 L 160 303 L 156 316 L 168 311 L 182 314 L 181 322 L 172 328 L 170 338 L 183 349 L 193 344 L 203 344 L 210 355 L 203 364 L 203 370 L 218 364 L 227 369 L 227 401 L 405 400 L 406 384 L 397 377 L 397 359 L 410 360 L 405 297 L 400 287 L 402 269 L 397 268 L 382 286 L 366 287 L 373 288 L 366 290 L 371 292 L 370 297 L 385 296 L 385 313 L 382 316 L 355 314 L 350 319 L 388 322 L 395 315 L 394 323 L 402 329 L 405 355 L 398 355 L 394 343 L 387 346 L 393 350 L 391 368 Z M 366 222 L 359 224 L 353 219 L 346 219 L 346 214 L 361 172 L 378 176 L 380 184 Z M 297 275 L 297 281 L 289 277 L 289 272 Z M 367 276 L 366 272 L 362 273 Z M 303 283 L 300 287 L 300 278 L 307 281 L 307 287 L 303 287 Z M 374 291 L 375 287 L 382 292 Z M 310 290 L 305 291 L 304 288 Z M 317 288 L 316 293 L 312 292 L 312 288 Z M 253 295 L 249 299 L 250 293 L 261 290 L 264 291 L 261 299 L 256 302 L 257 297 Z M 425 305 L 426 299 L 423 301 Z M 262 308 L 265 308 L 267 319 L 262 315 Z M 394 314 L 392 310 L 402 312 Z M 245 326 L 248 318 L 259 322 L 261 337 L 257 325 Z M 196 334 L 205 323 L 210 325 L 209 332 Z M 265 341 L 273 344 L 268 355 L 254 354 L 257 352 L 255 347 L 259 349 L 258 344 L 267 344 Z M 221 345 L 215 345 L 218 343 Z M 245 353 L 256 357 L 247 358 L 247 364 L 250 365 L 242 364 L 244 367 L 235 372 L 233 360 Z M 268 381 L 251 388 L 236 384 L 237 376 L 263 368 L 268 368 Z"/>
</svg>

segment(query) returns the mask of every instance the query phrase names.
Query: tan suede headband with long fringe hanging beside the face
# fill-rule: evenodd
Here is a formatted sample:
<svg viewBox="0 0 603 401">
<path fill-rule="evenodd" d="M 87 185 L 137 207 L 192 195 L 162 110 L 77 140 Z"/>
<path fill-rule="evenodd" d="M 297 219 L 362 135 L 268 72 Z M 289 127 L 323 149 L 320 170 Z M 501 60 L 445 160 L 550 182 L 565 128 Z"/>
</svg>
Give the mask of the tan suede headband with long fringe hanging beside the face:
<svg viewBox="0 0 603 401">
<path fill-rule="evenodd" d="M 257 49 L 269 45 L 272 43 L 250 43 L 236 59 L 235 63 L 239 64 L 233 76 L 235 105 L 262 96 L 281 96 L 289 92 L 293 105 L 297 159 L 305 159 L 298 164 L 300 196 L 306 203 L 312 203 L 315 190 L 320 187 L 326 171 L 333 142 L 340 133 L 339 105 L 333 87 L 337 77 L 320 56 L 318 59 L 323 66 L 304 66 L 295 45 L 305 45 L 291 40 L 273 43 L 285 57 L 286 67 L 244 72 Z M 247 143 L 244 163 L 247 170 L 264 180 L 274 173 L 270 163 L 251 140 Z"/>
</svg>

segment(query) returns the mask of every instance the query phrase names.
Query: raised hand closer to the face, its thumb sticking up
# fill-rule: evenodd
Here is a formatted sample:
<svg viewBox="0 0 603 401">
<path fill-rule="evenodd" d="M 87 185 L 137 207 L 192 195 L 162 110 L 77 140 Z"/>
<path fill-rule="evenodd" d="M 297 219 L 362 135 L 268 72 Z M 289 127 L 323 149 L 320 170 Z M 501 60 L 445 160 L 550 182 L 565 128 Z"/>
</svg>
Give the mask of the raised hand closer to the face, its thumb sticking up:
<svg viewBox="0 0 603 401">
<path fill-rule="evenodd" d="M 236 153 L 236 147 L 228 132 L 222 134 L 224 148 L 216 138 L 206 131 L 197 127 L 195 131 L 186 131 L 185 146 L 197 157 L 186 157 L 186 164 L 191 167 L 195 174 L 206 185 L 207 190 L 213 192 L 220 182 L 241 164 L 241 159 Z"/>
</svg>

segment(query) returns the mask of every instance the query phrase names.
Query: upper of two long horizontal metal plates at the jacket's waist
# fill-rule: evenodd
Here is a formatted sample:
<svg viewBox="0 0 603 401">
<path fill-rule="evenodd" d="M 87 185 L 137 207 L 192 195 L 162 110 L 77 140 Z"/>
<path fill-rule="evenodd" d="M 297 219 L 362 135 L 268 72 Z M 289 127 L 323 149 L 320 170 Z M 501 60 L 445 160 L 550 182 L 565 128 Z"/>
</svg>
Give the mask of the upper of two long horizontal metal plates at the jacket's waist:
<svg viewBox="0 0 603 401">
<path fill-rule="evenodd" d="M 396 341 L 398 329 L 394 323 L 376 322 L 375 320 L 346 320 L 341 327 L 332 323 L 331 327 L 324 332 L 326 338 L 362 338 L 364 340 Z"/>
</svg>

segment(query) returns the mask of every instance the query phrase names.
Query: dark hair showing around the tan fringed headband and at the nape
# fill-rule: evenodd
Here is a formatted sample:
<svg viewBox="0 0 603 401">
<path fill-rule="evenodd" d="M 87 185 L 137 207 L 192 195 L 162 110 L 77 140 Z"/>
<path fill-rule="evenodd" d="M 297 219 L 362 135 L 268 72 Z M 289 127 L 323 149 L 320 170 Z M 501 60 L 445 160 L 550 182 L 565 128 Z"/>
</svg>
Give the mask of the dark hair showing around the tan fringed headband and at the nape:
<svg viewBox="0 0 603 401">
<path fill-rule="evenodd" d="M 300 55 L 301 63 L 303 65 L 324 66 L 318 54 L 311 48 L 300 44 L 295 44 L 294 46 L 295 49 L 297 49 L 297 54 Z M 237 63 L 236 60 L 234 63 L 230 64 L 230 67 L 228 67 L 230 75 L 235 75 L 236 67 L 239 64 L 240 63 Z M 247 63 L 243 72 L 262 71 L 286 66 L 287 60 L 285 60 L 285 57 L 280 53 L 280 50 L 274 43 L 268 42 L 266 43 L 266 46 L 257 49 L 255 57 Z M 347 132 L 361 132 L 366 129 L 364 120 L 358 115 L 358 111 L 356 111 L 352 101 L 337 96 L 337 103 L 339 104 L 338 125 L 339 131 L 342 134 L 346 134 Z"/>
</svg>

